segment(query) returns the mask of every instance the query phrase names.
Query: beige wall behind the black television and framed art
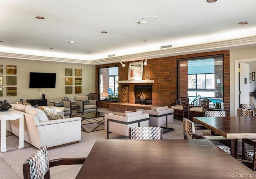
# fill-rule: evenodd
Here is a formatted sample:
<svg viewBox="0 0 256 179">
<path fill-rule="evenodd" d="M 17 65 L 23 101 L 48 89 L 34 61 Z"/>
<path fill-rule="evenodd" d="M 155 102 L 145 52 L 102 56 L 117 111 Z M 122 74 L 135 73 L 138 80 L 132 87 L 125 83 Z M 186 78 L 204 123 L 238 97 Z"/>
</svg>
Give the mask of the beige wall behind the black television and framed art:
<svg viewBox="0 0 256 179">
<path fill-rule="evenodd" d="M 0 75 L 4 77 L 4 85 L 0 86 L 3 87 L 3 96 L 0 96 L 0 100 L 6 99 L 9 103 L 19 101 L 20 98 L 24 99 L 25 102 L 26 99 L 40 98 L 38 89 L 29 88 L 30 72 L 56 73 L 56 88 L 42 89 L 42 94 L 45 94 L 46 98 L 55 96 L 63 98 L 64 96 L 68 96 L 72 100 L 74 96 L 87 95 L 95 92 L 95 65 L 4 58 L 0 58 L 0 65 L 4 67 L 3 75 Z M 6 75 L 6 65 L 16 65 L 17 75 Z M 65 94 L 66 68 L 73 69 L 73 94 Z M 82 85 L 75 85 L 74 69 L 82 69 Z M 17 76 L 17 85 L 6 86 L 6 76 Z M 75 94 L 75 86 L 82 86 L 81 94 Z M 17 87 L 17 96 L 6 96 L 6 87 Z"/>
</svg>

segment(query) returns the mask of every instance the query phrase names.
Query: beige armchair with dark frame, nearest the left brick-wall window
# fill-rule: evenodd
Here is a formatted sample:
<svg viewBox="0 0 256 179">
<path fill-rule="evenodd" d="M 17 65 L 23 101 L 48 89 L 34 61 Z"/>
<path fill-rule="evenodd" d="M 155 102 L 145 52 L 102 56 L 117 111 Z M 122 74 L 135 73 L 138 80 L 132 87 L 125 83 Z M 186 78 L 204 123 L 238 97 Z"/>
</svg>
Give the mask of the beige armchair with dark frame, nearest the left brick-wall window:
<svg viewBox="0 0 256 179">
<path fill-rule="evenodd" d="M 88 99 L 88 96 L 75 96 L 77 112 L 96 112 L 97 100 Z"/>
</svg>

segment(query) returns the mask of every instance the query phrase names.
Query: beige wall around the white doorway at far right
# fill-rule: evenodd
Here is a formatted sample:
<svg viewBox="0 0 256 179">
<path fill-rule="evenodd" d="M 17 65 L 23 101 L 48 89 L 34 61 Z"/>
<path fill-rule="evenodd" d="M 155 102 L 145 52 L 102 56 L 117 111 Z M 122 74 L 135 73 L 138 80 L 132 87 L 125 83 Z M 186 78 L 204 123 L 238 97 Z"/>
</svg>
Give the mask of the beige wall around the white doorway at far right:
<svg viewBox="0 0 256 179">
<path fill-rule="evenodd" d="M 230 116 L 236 116 L 236 109 L 239 105 L 236 63 L 249 61 L 256 62 L 256 47 L 230 49 Z"/>
</svg>

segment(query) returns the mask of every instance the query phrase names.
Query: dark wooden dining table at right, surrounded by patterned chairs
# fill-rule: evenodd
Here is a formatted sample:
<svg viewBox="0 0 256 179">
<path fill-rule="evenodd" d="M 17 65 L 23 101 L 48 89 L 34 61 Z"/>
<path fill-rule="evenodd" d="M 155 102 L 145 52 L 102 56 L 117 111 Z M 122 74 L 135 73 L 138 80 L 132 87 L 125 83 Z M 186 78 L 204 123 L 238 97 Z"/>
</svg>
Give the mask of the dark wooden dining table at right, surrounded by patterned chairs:
<svg viewBox="0 0 256 179">
<path fill-rule="evenodd" d="M 256 139 L 256 116 L 193 117 L 193 121 L 231 139 L 233 157 L 236 152 L 235 139 Z"/>
</svg>

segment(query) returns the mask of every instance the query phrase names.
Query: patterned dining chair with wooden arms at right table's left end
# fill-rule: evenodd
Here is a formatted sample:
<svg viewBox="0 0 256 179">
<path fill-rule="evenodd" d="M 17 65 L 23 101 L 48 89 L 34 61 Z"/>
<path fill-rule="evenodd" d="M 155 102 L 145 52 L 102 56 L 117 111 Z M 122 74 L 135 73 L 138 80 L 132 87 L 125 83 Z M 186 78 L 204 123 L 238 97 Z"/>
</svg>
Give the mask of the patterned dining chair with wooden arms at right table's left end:
<svg viewBox="0 0 256 179">
<path fill-rule="evenodd" d="M 184 139 L 208 139 L 211 140 L 213 144 L 215 144 L 218 148 L 222 149 L 228 154 L 231 154 L 231 149 L 229 146 L 220 142 L 220 140 L 226 140 L 223 136 L 204 136 L 200 134 L 196 134 L 196 129 L 202 128 L 201 126 L 197 126 L 195 128 L 194 122 L 187 118 L 183 118 L 183 133 Z"/>
</svg>

